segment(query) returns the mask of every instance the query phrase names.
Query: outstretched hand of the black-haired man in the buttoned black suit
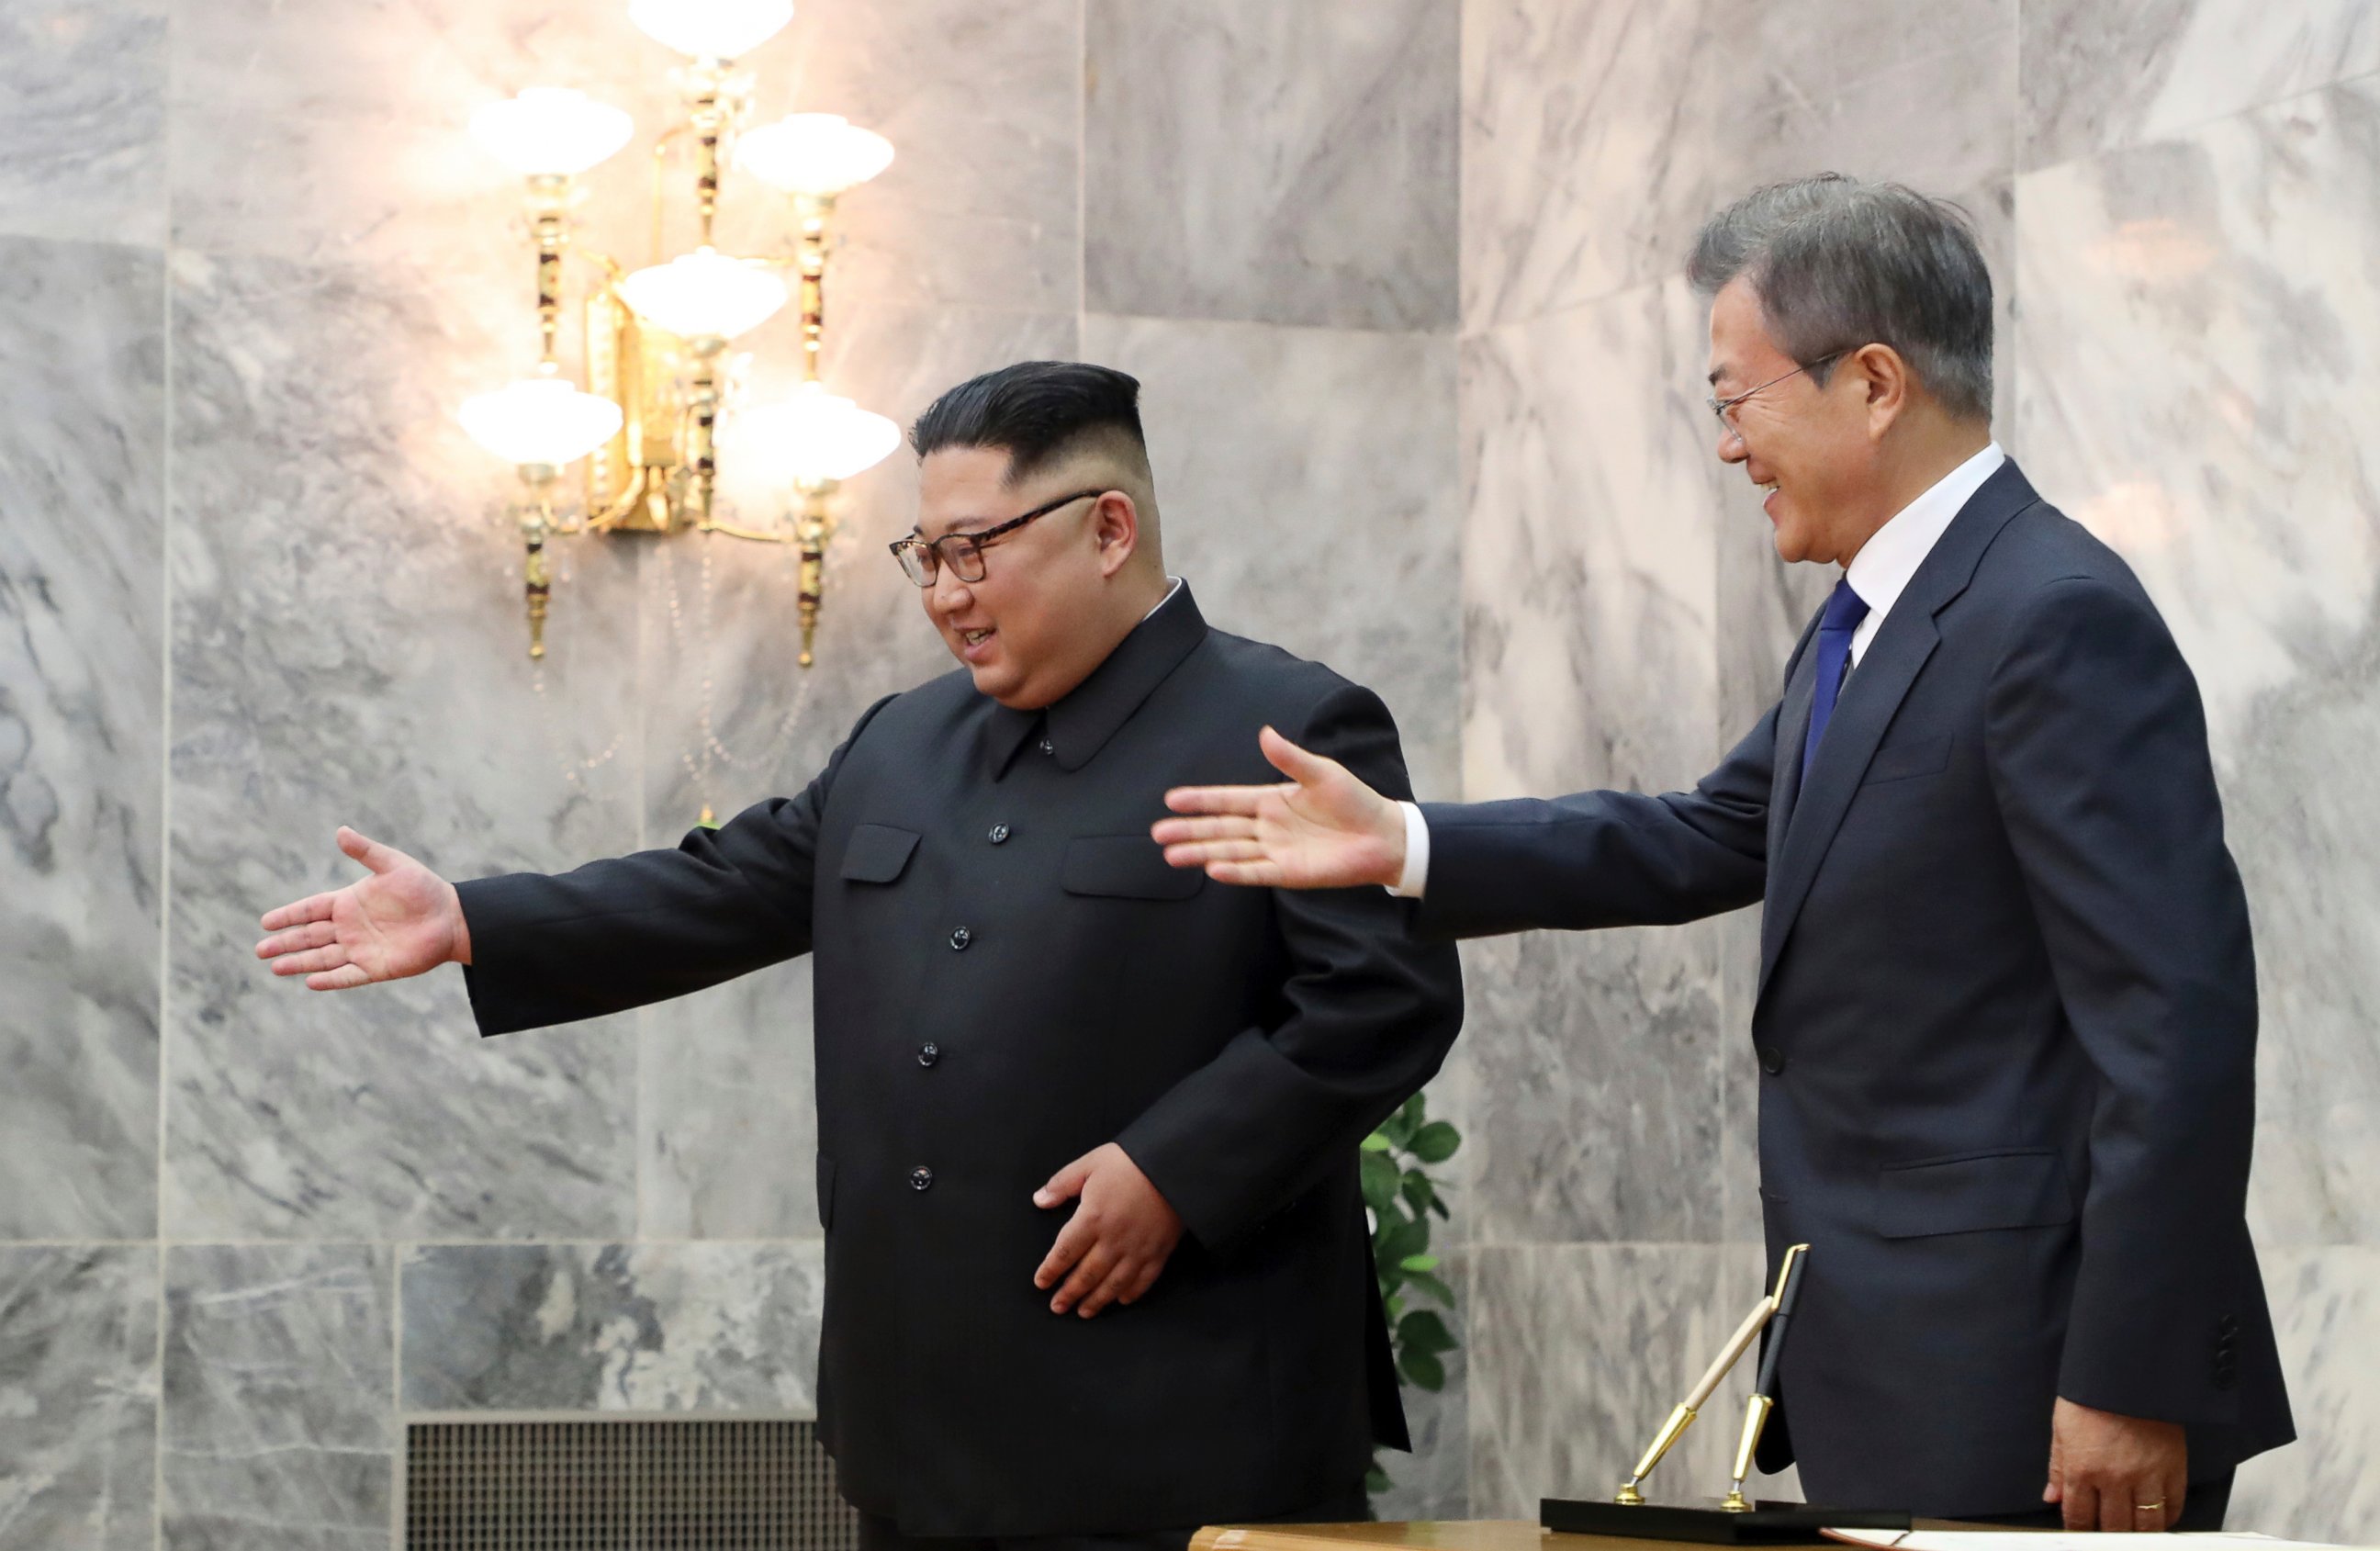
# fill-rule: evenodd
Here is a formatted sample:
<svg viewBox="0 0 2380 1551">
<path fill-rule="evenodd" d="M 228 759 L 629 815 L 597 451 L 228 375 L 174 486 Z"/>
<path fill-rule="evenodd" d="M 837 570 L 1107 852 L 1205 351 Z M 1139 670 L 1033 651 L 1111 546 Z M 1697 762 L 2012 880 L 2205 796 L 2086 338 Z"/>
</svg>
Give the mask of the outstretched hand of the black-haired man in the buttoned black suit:
<svg viewBox="0 0 2380 1551">
<path fill-rule="evenodd" d="M 276 975 L 305 975 L 307 990 L 345 992 L 447 961 L 471 963 L 471 928 L 452 883 L 345 825 L 338 849 L 371 875 L 264 916 L 274 935 L 257 944 L 257 959 L 269 959 Z"/>
</svg>

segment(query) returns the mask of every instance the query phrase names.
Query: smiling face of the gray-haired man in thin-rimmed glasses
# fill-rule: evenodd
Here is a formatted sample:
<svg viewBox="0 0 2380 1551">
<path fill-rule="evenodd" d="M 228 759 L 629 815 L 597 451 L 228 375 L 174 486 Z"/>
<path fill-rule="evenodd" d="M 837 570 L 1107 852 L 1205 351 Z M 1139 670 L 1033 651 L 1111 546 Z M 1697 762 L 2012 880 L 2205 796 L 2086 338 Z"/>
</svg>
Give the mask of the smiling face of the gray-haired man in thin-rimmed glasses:
<svg viewBox="0 0 2380 1551">
<path fill-rule="evenodd" d="M 1783 559 L 1849 564 L 1892 514 L 1892 507 L 1878 511 L 1878 445 L 1897 414 L 1897 393 L 1894 402 L 1878 402 L 1871 350 L 1883 347 L 1837 359 L 1825 385 L 1809 371 L 1787 376 L 1802 362 L 1768 335 L 1752 285 L 1735 278 L 1711 297 L 1711 395 L 1726 400 L 1771 383 L 1730 412 L 1735 433 L 1718 431 L 1718 457 L 1742 464 L 1768 492 L 1761 509 Z"/>
</svg>

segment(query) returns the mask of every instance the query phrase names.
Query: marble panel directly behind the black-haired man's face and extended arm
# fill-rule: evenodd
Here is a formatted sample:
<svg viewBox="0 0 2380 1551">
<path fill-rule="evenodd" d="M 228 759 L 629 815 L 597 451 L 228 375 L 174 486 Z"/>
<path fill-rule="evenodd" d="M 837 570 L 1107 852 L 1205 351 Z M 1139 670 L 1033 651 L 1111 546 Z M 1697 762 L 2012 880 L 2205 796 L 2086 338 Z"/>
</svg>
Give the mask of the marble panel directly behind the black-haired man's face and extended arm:
<svg viewBox="0 0 2380 1551">
<path fill-rule="evenodd" d="M 840 319 L 826 378 L 904 428 L 978 371 L 1076 354 L 1073 314 L 862 302 Z M 771 340 L 785 350 L 769 357 Z M 754 402 L 790 390 L 797 373 L 788 328 L 769 324 L 759 350 L 769 364 L 754 364 Z M 762 447 L 724 452 L 728 500 L 747 521 L 774 519 L 783 500 L 764 466 Z M 897 450 L 850 481 L 840 502 L 807 671 L 793 552 L 726 538 L 643 545 L 647 844 L 674 844 L 704 804 L 728 818 L 797 792 L 866 707 L 952 668 L 916 588 L 885 554 L 916 521 L 916 459 Z M 643 1232 L 816 1235 L 809 966 L 654 1006 L 643 1047 Z"/>
</svg>

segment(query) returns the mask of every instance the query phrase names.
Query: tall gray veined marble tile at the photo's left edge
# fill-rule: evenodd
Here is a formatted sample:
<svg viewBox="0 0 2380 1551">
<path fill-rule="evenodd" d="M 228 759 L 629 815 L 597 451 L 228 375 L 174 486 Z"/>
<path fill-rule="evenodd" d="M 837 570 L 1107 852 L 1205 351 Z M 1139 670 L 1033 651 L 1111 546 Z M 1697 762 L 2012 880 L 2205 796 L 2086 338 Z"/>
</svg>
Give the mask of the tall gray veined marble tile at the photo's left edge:
<svg viewBox="0 0 2380 1551">
<path fill-rule="evenodd" d="M 157 1232 L 162 297 L 0 238 L 0 1237 Z"/>
</svg>

